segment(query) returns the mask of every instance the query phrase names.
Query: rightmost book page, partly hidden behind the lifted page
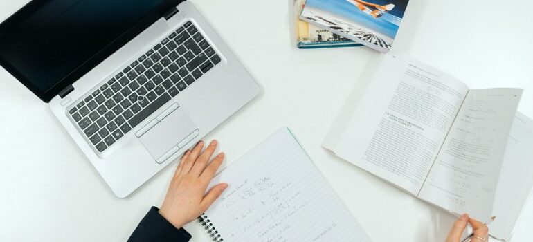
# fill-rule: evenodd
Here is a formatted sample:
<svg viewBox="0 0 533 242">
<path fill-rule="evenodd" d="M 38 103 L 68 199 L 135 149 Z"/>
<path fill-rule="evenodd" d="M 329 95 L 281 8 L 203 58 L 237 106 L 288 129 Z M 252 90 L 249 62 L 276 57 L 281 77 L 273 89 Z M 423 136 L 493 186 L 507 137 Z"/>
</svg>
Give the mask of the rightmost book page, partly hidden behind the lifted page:
<svg viewBox="0 0 533 242">
<path fill-rule="evenodd" d="M 489 233 L 511 240 L 514 225 L 533 186 L 533 120 L 520 112 L 514 117 L 507 140 Z"/>
</svg>

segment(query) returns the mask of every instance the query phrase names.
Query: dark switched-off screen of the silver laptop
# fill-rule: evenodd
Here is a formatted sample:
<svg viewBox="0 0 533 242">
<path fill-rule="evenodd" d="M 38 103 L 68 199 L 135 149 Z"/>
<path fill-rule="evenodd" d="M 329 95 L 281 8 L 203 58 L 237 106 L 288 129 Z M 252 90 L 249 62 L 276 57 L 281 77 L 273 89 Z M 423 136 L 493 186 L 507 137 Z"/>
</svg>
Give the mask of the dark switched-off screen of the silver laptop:
<svg viewBox="0 0 533 242">
<path fill-rule="evenodd" d="M 70 78 L 66 80 L 70 84 L 87 73 L 98 64 L 87 68 L 89 60 L 94 62 L 93 57 L 161 8 L 163 2 L 33 1 L 0 27 L 0 62 L 34 93 L 46 93 L 65 79 Z M 87 70 L 80 72 L 82 66 Z M 73 75 L 77 71 L 78 75 Z"/>
</svg>

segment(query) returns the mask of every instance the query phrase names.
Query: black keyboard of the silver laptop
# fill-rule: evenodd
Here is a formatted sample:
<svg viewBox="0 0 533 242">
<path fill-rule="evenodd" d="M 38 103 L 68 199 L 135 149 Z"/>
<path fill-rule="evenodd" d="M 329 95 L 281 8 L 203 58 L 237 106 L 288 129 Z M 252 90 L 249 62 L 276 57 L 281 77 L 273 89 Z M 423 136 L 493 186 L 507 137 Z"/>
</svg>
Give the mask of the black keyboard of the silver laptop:
<svg viewBox="0 0 533 242">
<path fill-rule="evenodd" d="M 69 114 L 96 150 L 105 151 L 220 60 L 188 21 L 80 100 Z"/>
</svg>

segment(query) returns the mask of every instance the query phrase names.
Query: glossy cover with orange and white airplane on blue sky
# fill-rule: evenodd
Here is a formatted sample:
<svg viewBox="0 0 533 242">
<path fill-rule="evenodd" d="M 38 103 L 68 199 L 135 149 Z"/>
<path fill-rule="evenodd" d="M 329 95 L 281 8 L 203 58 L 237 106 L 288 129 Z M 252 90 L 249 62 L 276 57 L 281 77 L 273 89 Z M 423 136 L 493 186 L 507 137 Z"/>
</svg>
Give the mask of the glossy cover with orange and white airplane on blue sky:
<svg viewBox="0 0 533 242">
<path fill-rule="evenodd" d="M 307 0 L 300 19 L 375 50 L 392 47 L 409 0 Z"/>
</svg>

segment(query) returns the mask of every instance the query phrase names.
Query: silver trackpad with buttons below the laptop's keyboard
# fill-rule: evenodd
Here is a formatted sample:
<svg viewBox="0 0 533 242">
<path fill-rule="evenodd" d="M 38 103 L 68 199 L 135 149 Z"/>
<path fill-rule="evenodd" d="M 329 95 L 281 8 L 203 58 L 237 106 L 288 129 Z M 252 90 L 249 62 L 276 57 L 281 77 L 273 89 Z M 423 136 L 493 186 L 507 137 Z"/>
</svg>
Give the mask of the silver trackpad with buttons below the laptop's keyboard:
<svg viewBox="0 0 533 242">
<path fill-rule="evenodd" d="M 161 163 L 198 136 L 198 129 L 183 108 L 178 108 L 146 131 L 139 140 L 152 157 Z"/>
</svg>

